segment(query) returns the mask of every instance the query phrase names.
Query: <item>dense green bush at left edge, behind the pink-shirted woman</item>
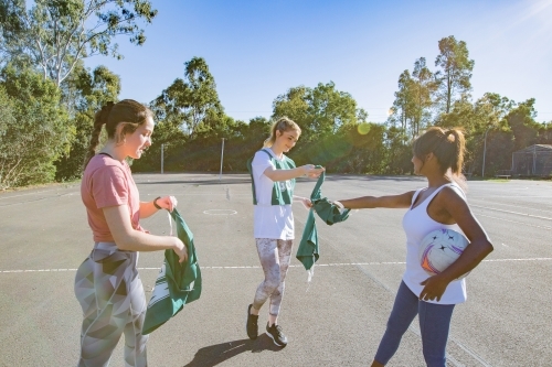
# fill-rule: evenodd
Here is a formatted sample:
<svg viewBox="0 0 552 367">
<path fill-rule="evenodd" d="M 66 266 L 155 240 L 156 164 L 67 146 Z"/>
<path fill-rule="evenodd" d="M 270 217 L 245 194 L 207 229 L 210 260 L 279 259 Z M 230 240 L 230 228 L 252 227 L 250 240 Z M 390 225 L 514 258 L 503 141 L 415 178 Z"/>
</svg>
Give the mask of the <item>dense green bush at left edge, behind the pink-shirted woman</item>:
<svg viewBox="0 0 552 367">
<path fill-rule="evenodd" d="M 6 100 L 0 140 L 0 187 L 51 182 L 55 161 L 67 152 L 75 129 L 60 106 L 60 90 L 30 71 L 8 66 L 0 88 Z"/>
</svg>

